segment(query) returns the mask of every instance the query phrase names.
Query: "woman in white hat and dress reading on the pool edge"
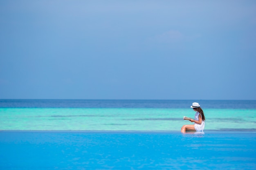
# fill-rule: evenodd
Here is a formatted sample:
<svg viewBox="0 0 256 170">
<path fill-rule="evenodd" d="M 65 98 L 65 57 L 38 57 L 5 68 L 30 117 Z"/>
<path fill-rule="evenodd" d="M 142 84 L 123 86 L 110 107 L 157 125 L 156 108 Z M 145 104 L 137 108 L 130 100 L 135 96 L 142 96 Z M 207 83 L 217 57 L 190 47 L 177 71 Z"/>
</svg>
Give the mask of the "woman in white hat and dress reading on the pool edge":
<svg viewBox="0 0 256 170">
<path fill-rule="evenodd" d="M 195 113 L 195 120 L 191 119 L 189 121 L 195 122 L 193 125 L 184 125 L 181 128 L 181 132 L 186 132 L 186 131 L 203 131 L 204 130 L 204 112 L 200 108 L 199 103 L 194 102 L 192 106 L 193 110 L 196 112 Z"/>
</svg>

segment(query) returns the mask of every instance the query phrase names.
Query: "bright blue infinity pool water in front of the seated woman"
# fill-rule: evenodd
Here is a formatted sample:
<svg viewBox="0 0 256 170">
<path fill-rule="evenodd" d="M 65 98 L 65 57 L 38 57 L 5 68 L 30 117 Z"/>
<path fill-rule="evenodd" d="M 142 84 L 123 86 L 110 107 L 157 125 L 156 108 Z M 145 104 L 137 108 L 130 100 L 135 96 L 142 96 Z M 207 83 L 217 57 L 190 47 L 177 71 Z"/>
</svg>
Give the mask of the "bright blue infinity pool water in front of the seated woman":
<svg viewBox="0 0 256 170">
<path fill-rule="evenodd" d="M 0 131 L 1 170 L 255 170 L 255 132 Z"/>
</svg>

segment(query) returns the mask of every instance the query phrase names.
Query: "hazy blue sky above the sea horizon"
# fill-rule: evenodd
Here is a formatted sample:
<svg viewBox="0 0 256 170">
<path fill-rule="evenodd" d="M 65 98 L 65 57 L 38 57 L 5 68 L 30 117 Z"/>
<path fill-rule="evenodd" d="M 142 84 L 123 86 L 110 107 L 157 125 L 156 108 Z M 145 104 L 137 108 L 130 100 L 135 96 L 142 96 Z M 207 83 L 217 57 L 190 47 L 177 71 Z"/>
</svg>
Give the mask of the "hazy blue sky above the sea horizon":
<svg viewBox="0 0 256 170">
<path fill-rule="evenodd" d="M 256 99 L 255 0 L 0 1 L 0 99 Z"/>
</svg>

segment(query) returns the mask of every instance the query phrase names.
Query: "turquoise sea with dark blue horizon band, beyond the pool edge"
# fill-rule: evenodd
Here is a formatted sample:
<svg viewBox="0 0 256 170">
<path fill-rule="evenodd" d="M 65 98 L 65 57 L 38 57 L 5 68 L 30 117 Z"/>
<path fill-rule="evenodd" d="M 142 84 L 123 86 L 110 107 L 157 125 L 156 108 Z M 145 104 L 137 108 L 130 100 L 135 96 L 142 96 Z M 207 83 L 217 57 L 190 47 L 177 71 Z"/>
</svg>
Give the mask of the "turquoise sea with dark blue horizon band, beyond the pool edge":
<svg viewBox="0 0 256 170">
<path fill-rule="evenodd" d="M 0 100 L 0 130 L 180 131 L 205 115 L 205 131 L 255 131 L 255 100 Z"/>
</svg>

